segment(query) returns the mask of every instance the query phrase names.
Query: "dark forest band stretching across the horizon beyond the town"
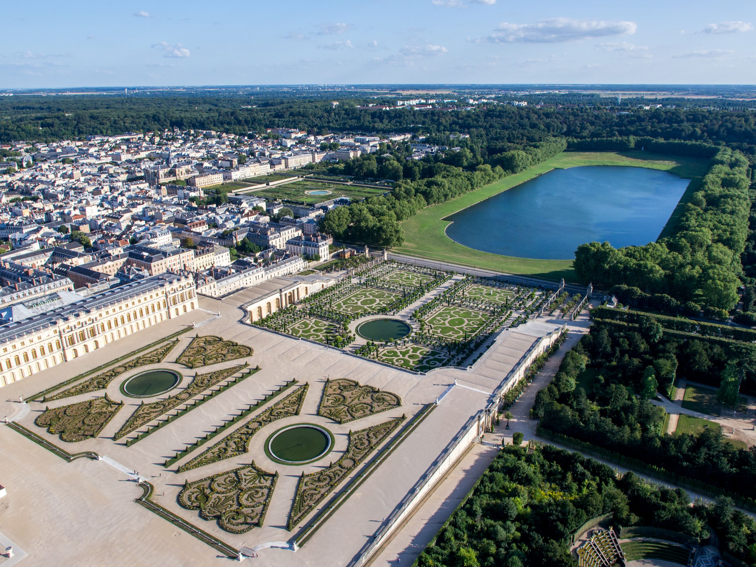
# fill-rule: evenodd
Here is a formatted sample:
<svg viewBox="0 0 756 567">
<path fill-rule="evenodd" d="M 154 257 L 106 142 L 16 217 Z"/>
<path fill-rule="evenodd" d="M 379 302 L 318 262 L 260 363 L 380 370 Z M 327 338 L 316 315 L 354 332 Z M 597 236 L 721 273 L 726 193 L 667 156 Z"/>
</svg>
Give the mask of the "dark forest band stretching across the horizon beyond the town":
<svg viewBox="0 0 756 567">
<path fill-rule="evenodd" d="M 727 144 L 756 155 L 756 116 L 749 110 L 671 108 L 616 113 L 600 107 L 512 107 L 474 110 L 361 110 L 376 98 L 256 96 L 14 96 L 0 100 L 0 141 L 57 140 L 166 128 L 264 133 L 265 127 L 328 132 L 466 132 L 488 154 L 553 136 L 587 140 L 627 136 Z M 379 101 L 380 102 L 380 101 Z"/>
</svg>

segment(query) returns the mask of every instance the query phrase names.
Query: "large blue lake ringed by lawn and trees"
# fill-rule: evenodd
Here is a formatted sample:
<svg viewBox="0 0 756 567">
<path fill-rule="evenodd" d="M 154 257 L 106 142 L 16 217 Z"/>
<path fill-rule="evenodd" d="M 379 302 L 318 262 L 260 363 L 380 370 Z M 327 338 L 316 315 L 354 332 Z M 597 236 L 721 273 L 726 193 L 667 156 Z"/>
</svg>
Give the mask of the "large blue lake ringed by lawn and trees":
<svg viewBox="0 0 756 567">
<path fill-rule="evenodd" d="M 520 258 L 573 259 L 582 243 L 643 245 L 658 238 L 689 179 L 655 169 L 554 169 L 447 220 L 464 246 Z"/>
</svg>

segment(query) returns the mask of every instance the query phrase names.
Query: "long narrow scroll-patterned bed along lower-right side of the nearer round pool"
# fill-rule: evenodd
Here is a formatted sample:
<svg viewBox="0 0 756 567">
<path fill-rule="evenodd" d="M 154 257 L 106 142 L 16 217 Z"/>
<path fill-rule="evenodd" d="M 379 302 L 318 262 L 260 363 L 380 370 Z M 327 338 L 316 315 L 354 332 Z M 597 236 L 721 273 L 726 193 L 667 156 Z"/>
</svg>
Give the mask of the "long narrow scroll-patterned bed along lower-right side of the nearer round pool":
<svg viewBox="0 0 756 567">
<path fill-rule="evenodd" d="M 349 432 L 349 446 L 342 457 L 327 469 L 311 472 L 299 479 L 296 487 L 296 496 L 289 514 L 287 529 L 295 528 L 305 516 L 328 496 L 342 480 L 349 475 L 373 450 L 391 435 L 404 416 L 395 417 L 392 420 L 379 423 L 376 426 Z"/>
</svg>

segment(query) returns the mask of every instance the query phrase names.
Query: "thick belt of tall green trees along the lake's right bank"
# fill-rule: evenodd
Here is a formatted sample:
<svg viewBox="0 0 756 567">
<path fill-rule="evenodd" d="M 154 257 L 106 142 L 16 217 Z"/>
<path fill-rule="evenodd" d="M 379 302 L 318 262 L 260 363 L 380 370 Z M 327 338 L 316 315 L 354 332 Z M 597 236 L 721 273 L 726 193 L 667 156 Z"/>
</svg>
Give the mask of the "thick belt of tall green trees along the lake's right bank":
<svg viewBox="0 0 756 567">
<path fill-rule="evenodd" d="M 581 244 L 575 275 L 584 283 L 624 284 L 680 302 L 700 290 L 705 305 L 730 310 L 738 301 L 740 255 L 748 236 L 747 169 L 742 153 L 720 149 L 686 204 L 674 237 L 621 249 L 608 242 Z"/>
</svg>

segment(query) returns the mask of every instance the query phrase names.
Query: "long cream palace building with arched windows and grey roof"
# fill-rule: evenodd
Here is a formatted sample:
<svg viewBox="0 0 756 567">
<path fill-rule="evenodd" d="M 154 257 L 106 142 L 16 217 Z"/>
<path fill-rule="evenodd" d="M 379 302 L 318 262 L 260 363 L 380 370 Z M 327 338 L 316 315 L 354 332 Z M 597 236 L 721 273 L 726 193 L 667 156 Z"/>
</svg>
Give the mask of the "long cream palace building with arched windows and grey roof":
<svg viewBox="0 0 756 567">
<path fill-rule="evenodd" d="M 191 274 L 163 273 L 0 327 L 0 386 L 197 309 Z"/>
</svg>

